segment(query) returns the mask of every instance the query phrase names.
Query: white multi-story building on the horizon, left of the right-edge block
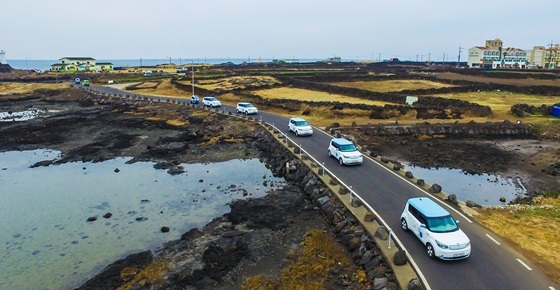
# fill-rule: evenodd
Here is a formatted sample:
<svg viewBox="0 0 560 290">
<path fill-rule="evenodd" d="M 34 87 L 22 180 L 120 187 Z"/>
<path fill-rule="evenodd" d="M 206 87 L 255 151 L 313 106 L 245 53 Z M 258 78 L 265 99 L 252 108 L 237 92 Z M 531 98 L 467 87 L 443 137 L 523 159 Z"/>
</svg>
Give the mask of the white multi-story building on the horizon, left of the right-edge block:
<svg viewBox="0 0 560 290">
<path fill-rule="evenodd" d="M 501 39 L 486 40 L 485 46 L 469 49 L 471 68 L 527 68 L 527 52 L 520 48 L 503 47 Z"/>
</svg>

